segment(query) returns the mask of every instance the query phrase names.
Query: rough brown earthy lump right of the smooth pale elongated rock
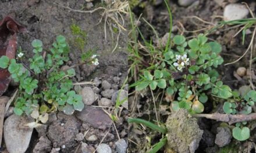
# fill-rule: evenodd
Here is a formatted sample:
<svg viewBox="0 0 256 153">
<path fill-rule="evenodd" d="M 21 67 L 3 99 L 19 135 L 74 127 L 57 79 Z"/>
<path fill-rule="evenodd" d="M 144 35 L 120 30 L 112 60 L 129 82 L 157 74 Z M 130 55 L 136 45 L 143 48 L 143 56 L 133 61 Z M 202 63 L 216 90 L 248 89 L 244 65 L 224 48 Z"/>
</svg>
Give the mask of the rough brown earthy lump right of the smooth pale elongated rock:
<svg viewBox="0 0 256 153">
<path fill-rule="evenodd" d="M 75 116 L 66 115 L 63 112 L 59 112 L 57 116 L 58 120 L 49 125 L 47 136 L 52 141 L 54 148 L 65 145 L 62 152 L 71 152 L 81 123 Z"/>
</svg>

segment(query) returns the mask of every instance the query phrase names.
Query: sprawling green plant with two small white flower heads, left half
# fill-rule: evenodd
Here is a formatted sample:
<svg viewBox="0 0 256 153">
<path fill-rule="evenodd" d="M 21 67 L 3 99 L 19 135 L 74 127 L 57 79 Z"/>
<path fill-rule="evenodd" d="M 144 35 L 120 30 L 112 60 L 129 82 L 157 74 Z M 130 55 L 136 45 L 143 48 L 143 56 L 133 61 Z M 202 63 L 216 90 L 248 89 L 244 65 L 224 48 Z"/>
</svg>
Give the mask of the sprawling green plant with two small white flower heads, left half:
<svg viewBox="0 0 256 153">
<path fill-rule="evenodd" d="M 42 42 L 35 39 L 33 46 L 34 56 L 29 59 L 29 69 L 23 64 L 9 60 L 7 56 L 0 58 L 0 67 L 8 68 L 11 77 L 19 82 L 19 96 L 15 100 L 14 112 L 32 116 L 42 123 L 47 122 L 48 113 L 63 111 L 65 114 L 81 111 L 84 108 L 82 97 L 73 90 L 72 77 L 76 72 L 72 67 L 62 70 L 61 66 L 69 60 L 69 45 L 65 37 L 59 35 L 52 44 L 50 52 L 44 52 Z M 19 49 L 17 59 L 22 60 L 22 50 Z M 87 57 L 87 63 L 98 64 L 97 55 Z M 84 57 L 85 58 L 85 57 Z M 36 126 L 37 124 L 30 126 Z"/>
</svg>

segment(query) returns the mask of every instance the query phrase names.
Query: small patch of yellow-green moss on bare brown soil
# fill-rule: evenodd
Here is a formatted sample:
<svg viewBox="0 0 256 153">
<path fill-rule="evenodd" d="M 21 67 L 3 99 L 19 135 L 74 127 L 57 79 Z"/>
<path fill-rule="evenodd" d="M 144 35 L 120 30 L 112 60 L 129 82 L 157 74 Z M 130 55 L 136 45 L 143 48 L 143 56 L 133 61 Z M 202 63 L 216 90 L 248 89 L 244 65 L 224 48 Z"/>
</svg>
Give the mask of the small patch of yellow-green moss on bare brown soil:
<svg viewBox="0 0 256 153">
<path fill-rule="evenodd" d="M 74 45 L 79 48 L 80 50 L 84 49 L 84 46 L 86 46 L 87 43 L 87 34 L 86 31 L 81 30 L 79 25 L 72 24 L 70 26 L 70 30 L 72 32 L 72 35 L 74 37 L 73 43 Z"/>
</svg>

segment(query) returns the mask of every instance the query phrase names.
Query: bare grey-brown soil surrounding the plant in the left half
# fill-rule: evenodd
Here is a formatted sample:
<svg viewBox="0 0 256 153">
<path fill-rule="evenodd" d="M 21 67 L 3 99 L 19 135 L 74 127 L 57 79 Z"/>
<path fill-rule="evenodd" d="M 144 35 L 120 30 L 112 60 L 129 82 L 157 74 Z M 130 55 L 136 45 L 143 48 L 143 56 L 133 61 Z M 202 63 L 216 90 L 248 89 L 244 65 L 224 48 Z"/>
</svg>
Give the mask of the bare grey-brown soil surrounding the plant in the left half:
<svg viewBox="0 0 256 153">
<path fill-rule="evenodd" d="M 94 8 L 101 6 L 101 1 L 95 1 Z M 57 5 L 58 4 L 58 5 Z M 101 87 L 102 81 L 108 81 L 111 89 L 115 92 L 121 88 L 127 76 L 127 34 L 123 31 L 119 36 L 118 48 L 112 53 L 116 45 L 117 34 L 112 34 L 106 27 L 106 40 L 104 31 L 104 21 L 101 21 L 102 11 L 94 13 L 77 13 L 60 7 L 69 6 L 73 9 L 81 9 L 86 6 L 85 1 L 0 1 L 0 19 L 9 15 L 13 19 L 23 24 L 29 33 L 18 35 L 18 47 L 24 50 L 24 63 L 28 64 L 26 59 L 32 56 L 31 41 L 40 39 L 44 44 L 44 49 L 51 48 L 52 42 L 57 35 L 64 35 L 70 45 L 70 61 L 67 65 L 79 63 L 81 53 L 90 49 L 97 49 L 99 55 L 99 65 L 81 65 L 76 68 L 76 76 L 74 82 L 83 82 L 94 80 L 97 85 L 90 86 L 94 89 L 95 99 L 93 105 L 98 105 L 101 99 L 100 92 L 104 89 Z M 85 9 L 86 10 L 86 9 Z M 86 32 L 86 45 L 83 50 L 74 45 L 70 25 L 76 24 Z M 47 50 L 49 51 L 49 50 Z M 116 78 L 118 81 L 116 82 Z M 84 86 L 82 86 L 84 87 Z M 11 94 L 15 87 L 10 86 L 8 93 Z M 110 96 L 111 99 L 112 95 Z M 114 103 L 113 103 L 114 104 Z M 113 105 L 111 104 L 111 105 Z M 102 111 L 102 109 L 101 109 Z M 101 113 L 104 114 L 102 111 Z M 52 114 L 49 117 L 47 125 L 34 130 L 31 138 L 29 152 L 81 152 L 81 146 L 87 146 L 93 152 L 103 138 L 104 143 L 108 144 L 112 151 L 115 152 L 115 142 L 118 141 L 116 132 L 119 133 L 121 139 L 127 141 L 127 131 L 125 114 L 122 111 L 120 122 L 105 129 L 93 128 L 90 123 L 80 121 L 76 116 L 68 116 L 63 113 Z M 105 114 L 104 114 L 105 115 Z M 98 116 L 100 118 L 100 116 Z M 63 125 L 62 125 L 63 124 Z M 94 135 L 96 140 L 86 139 L 83 137 L 84 132 Z M 105 133 L 108 132 L 108 134 Z M 80 134 L 80 139 L 79 135 Z M 89 137 L 88 134 L 86 137 Z M 105 137 L 104 137 L 105 136 Z M 79 140 L 77 140 L 79 139 Z M 86 145 L 84 143 L 87 143 Z M 83 145 L 81 145 L 83 144 Z M 82 147 L 82 150 L 85 148 Z M 5 147 L 1 148 L 4 151 Z M 34 151 L 33 151 L 34 150 Z M 59 151 L 60 150 L 60 151 Z M 93 151 L 92 151 L 93 150 Z"/>
</svg>

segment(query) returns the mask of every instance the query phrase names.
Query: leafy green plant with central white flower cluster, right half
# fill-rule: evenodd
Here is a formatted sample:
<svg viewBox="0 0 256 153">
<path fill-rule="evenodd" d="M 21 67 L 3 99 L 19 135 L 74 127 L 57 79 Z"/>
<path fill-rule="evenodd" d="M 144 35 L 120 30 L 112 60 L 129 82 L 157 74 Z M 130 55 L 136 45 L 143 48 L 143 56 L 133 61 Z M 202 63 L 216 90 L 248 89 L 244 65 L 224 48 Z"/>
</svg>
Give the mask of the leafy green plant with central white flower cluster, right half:
<svg viewBox="0 0 256 153">
<path fill-rule="evenodd" d="M 166 89 L 173 98 L 172 108 L 185 108 L 191 114 L 204 111 L 208 91 L 227 99 L 232 96 L 229 86 L 219 81 L 215 70 L 223 63 L 219 56 L 222 48 L 218 42 L 208 42 L 205 35 L 186 41 L 183 35 L 176 35 L 170 42 L 171 49 L 159 52 L 154 65 L 144 70 L 141 79 L 133 84 L 136 90 L 150 87 Z"/>
</svg>

